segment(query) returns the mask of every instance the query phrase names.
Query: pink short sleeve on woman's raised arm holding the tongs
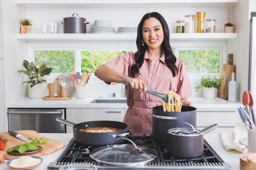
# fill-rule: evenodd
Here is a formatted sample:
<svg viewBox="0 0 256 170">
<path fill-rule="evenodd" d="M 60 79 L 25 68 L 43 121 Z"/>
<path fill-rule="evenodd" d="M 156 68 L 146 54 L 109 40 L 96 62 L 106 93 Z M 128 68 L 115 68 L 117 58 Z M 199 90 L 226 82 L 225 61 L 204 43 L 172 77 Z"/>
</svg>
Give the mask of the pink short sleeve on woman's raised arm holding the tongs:
<svg viewBox="0 0 256 170">
<path fill-rule="evenodd" d="M 128 52 L 125 54 L 121 54 L 115 58 L 113 58 L 112 60 L 106 62 L 105 66 L 112 68 L 113 70 L 125 74 L 125 75 L 129 75 L 129 70 L 130 67 L 133 65 L 134 63 L 134 53 L 133 52 Z M 115 82 L 105 82 L 106 84 L 118 84 Z"/>
</svg>

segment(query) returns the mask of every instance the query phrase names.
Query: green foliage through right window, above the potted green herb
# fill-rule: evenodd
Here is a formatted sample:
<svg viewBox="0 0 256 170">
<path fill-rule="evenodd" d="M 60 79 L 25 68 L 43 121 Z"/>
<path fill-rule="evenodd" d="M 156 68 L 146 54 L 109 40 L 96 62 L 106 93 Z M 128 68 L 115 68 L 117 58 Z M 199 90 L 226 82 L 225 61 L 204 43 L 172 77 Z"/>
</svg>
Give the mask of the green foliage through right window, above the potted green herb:
<svg viewBox="0 0 256 170">
<path fill-rule="evenodd" d="M 219 73 L 219 50 L 179 50 L 188 73 Z"/>
</svg>

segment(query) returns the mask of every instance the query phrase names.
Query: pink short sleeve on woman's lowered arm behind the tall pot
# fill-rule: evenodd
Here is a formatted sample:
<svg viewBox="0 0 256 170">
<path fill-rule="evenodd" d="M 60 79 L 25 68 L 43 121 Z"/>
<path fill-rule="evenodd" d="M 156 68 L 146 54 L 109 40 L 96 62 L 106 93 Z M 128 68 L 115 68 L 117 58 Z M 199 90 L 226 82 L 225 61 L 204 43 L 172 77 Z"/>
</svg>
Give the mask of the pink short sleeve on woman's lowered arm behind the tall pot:
<svg viewBox="0 0 256 170">
<path fill-rule="evenodd" d="M 181 96 L 181 99 L 192 96 L 192 89 L 188 78 L 187 70 L 183 62 L 178 66 L 179 83 L 177 85 L 176 93 Z"/>
</svg>

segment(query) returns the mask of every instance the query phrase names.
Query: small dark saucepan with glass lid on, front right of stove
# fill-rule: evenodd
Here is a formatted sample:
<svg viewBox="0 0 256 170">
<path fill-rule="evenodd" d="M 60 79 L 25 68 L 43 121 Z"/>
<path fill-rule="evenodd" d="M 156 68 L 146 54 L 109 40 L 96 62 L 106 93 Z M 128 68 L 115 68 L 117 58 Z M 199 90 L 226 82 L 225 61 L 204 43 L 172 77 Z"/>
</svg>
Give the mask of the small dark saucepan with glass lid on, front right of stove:
<svg viewBox="0 0 256 170">
<path fill-rule="evenodd" d="M 187 124 L 191 128 L 178 128 Z M 218 127 L 212 124 L 203 130 L 195 129 L 193 125 L 184 122 L 176 128 L 168 130 L 168 152 L 173 156 L 198 157 L 203 154 L 203 135 Z"/>
</svg>

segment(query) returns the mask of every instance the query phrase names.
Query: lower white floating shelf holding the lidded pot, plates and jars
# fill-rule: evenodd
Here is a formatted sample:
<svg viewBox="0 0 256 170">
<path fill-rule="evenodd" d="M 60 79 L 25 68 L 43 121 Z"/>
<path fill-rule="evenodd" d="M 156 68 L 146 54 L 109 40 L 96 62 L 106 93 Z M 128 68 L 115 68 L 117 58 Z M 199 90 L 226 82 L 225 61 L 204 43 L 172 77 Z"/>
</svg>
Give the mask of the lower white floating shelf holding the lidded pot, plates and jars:
<svg viewBox="0 0 256 170">
<path fill-rule="evenodd" d="M 24 41 L 63 41 L 63 40 L 136 40 L 137 34 L 15 34 Z M 229 40 L 237 38 L 237 33 L 182 33 L 170 34 L 170 40 Z"/>
</svg>

